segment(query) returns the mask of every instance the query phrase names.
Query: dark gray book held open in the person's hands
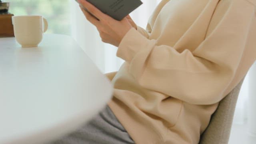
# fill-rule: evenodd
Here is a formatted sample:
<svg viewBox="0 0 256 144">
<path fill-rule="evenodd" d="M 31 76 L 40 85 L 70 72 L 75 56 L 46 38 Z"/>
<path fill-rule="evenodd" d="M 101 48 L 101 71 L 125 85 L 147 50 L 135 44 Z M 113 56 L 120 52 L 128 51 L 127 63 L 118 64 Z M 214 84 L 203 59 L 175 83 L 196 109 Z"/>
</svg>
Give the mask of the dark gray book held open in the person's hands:
<svg viewBox="0 0 256 144">
<path fill-rule="evenodd" d="M 111 16 L 115 20 L 122 20 L 133 10 L 138 8 L 142 2 L 140 0 L 87 0 L 104 14 Z M 77 0 L 76 0 L 77 2 Z M 84 8 L 84 7 L 83 7 Z M 86 10 L 86 8 L 84 8 Z M 88 10 L 86 10 L 88 12 Z"/>
</svg>

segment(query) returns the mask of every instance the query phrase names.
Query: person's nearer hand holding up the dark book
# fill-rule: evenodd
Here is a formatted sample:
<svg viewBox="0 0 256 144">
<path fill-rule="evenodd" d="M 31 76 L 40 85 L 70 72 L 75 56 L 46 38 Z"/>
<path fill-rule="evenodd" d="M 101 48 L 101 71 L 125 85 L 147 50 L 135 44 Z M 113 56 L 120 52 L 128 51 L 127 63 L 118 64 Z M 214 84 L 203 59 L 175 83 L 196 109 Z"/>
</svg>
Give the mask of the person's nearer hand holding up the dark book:
<svg viewBox="0 0 256 144">
<path fill-rule="evenodd" d="M 119 46 L 122 38 L 132 28 L 132 25 L 125 17 L 121 21 L 115 20 L 114 18 L 104 14 L 94 5 L 90 4 L 86 0 L 78 0 L 78 2 L 84 6 L 90 13 L 86 12 L 81 6 L 81 10 L 84 13 L 86 19 L 96 26 L 100 33 L 102 42 Z M 98 18 L 98 20 L 97 20 Z"/>
</svg>

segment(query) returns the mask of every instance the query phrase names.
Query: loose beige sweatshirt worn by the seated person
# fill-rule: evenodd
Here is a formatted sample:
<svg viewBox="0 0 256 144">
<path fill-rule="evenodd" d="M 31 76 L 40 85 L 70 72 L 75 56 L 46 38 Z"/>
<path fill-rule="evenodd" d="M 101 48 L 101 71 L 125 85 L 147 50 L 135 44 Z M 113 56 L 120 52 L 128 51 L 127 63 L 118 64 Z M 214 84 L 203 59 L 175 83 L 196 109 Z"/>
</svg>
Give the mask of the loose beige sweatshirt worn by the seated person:
<svg viewBox="0 0 256 144">
<path fill-rule="evenodd" d="M 108 103 L 136 144 L 196 144 L 256 60 L 256 0 L 162 0 L 117 56 Z"/>
</svg>

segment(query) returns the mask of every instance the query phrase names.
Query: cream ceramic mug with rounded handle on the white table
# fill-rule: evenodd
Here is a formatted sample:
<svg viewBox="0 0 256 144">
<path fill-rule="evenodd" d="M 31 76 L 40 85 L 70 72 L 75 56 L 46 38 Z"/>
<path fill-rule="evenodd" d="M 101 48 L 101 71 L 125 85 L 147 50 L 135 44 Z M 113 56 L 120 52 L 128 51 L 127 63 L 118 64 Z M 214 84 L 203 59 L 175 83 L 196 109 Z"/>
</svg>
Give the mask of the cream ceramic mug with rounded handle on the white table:
<svg viewBox="0 0 256 144">
<path fill-rule="evenodd" d="M 12 16 L 14 36 L 22 47 L 37 47 L 48 28 L 42 16 Z"/>
</svg>

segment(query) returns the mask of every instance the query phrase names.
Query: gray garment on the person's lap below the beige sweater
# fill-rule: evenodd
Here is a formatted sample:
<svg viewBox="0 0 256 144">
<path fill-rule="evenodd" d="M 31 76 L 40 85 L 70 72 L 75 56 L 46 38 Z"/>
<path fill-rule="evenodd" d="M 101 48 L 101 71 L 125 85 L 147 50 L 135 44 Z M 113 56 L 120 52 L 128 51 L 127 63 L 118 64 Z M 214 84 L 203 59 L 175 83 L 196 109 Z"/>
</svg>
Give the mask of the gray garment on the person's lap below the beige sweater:
<svg viewBox="0 0 256 144">
<path fill-rule="evenodd" d="M 82 128 L 50 144 L 134 144 L 134 141 L 106 106 Z"/>
</svg>

